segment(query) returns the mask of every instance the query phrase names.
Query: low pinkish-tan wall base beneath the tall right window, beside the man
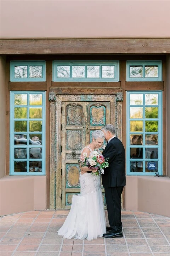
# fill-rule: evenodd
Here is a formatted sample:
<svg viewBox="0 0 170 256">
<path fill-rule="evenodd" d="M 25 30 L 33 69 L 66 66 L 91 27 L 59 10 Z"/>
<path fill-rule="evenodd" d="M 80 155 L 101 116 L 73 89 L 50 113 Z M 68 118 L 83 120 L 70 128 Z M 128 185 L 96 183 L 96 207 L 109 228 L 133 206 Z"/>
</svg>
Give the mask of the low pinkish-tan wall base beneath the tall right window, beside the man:
<svg viewBox="0 0 170 256">
<path fill-rule="evenodd" d="M 170 178 L 126 176 L 125 210 L 170 217 Z"/>
</svg>

